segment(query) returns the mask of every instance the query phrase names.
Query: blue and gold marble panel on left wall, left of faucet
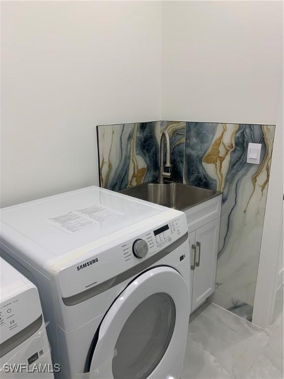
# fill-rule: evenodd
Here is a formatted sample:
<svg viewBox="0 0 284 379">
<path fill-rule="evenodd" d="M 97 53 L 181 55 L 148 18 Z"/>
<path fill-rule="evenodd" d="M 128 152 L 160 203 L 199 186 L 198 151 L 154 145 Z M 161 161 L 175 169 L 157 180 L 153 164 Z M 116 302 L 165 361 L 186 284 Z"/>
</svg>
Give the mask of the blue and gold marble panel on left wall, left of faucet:
<svg viewBox="0 0 284 379">
<path fill-rule="evenodd" d="M 118 191 L 157 177 L 159 128 L 156 121 L 97 126 L 101 187 Z"/>
</svg>

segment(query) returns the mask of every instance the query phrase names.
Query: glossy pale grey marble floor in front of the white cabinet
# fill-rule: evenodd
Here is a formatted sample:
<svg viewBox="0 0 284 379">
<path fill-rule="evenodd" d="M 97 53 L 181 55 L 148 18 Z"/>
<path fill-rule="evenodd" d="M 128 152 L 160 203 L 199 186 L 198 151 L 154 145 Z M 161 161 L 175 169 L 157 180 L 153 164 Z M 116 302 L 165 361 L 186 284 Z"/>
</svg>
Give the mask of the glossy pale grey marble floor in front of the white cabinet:
<svg viewBox="0 0 284 379">
<path fill-rule="evenodd" d="M 181 378 L 283 378 L 283 311 L 275 322 L 267 333 L 216 304 L 203 304 L 190 316 Z"/>
</svg>

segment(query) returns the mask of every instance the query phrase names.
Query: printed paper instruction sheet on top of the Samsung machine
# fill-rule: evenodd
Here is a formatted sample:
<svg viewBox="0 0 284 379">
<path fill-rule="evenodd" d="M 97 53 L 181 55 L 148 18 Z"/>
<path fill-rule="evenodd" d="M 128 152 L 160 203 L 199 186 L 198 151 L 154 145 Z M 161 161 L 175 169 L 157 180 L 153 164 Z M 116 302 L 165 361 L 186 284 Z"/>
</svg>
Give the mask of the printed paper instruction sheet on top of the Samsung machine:
<svg viewBox="0 0 284 379">
<path fill-rule="evenodd" d="M 49 218 L 48 220 L 51 221 L 52 225 L 63 231 L 74 233 L 119 216 L 124 216 L 124 213 L 101 204 L 95 204 L 91 207 L 77 209 L 63 215 Z"/>
</svg>

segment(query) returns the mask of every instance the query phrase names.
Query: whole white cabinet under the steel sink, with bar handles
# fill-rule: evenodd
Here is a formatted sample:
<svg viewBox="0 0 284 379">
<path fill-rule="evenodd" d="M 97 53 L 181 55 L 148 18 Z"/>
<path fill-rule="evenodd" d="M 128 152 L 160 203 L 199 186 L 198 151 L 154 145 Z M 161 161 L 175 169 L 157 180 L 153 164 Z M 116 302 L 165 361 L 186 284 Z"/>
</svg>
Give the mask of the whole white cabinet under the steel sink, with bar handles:
<svg viewBox="0 0 284 379">
<path fill-rule="evenodd" d="M 191 312 L 214 292 L 221 196 L 185 211 L 190 248 Z"/>
</svg>

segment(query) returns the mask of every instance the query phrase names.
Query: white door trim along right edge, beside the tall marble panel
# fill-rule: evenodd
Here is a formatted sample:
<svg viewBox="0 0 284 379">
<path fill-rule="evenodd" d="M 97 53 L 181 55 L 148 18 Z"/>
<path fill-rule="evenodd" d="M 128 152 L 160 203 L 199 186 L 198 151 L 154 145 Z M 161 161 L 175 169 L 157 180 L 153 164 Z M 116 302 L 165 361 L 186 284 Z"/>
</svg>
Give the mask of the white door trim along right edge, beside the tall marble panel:
<svg viewBox="0 0 284 379">
<path fill-rule="evenodd" d="M 275 295 L 278 286 L 279 253 L 283 254 L 283 76 L 278 104 L 276 129 L 273 143 L 272 164 L 264 226 L 261 240 L 254 307 L 253 323 L 262 328 L 270 325 L 273 316 Z M 282 247 L 281 247 L 282 246 Z M 282 248 L 282 252 L 279 250 Z"/>
</svg>

